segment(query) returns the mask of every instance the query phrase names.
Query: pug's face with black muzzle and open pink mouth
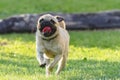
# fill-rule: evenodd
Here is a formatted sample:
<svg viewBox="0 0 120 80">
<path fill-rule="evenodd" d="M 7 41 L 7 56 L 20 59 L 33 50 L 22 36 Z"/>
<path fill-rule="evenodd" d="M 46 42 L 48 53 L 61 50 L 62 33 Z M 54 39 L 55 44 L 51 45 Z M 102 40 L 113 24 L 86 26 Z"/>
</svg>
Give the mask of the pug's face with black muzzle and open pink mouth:
<svg viewBox="0 0 120 80">
<path fill-rule="evenodd" d="M 61 18 L 62 19 L 62 18 Z M 60 18 L 52 16 L 50 14 L 43 15 L 38 20 L 37 29 L 45 37 L 52 36 L 59 26 Z"/>
</svg>

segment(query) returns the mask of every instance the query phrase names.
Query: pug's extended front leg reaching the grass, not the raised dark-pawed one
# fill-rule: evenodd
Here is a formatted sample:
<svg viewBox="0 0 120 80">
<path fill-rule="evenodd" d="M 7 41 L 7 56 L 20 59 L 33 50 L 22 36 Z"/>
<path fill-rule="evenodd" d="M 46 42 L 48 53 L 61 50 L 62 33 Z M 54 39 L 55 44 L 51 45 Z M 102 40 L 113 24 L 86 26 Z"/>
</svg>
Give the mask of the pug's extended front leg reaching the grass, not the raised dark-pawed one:
<svg viewBox="0 0 120 80">
<path fill-rule="evenodd" d="M 56 55 L 54 60 L 46 66 L 46 75 L 49 76 L 50 73 L 52 72 L 54 66 L 57 64 L 57 62 L 60 60 L 61 55 Z"/>
</svg>

